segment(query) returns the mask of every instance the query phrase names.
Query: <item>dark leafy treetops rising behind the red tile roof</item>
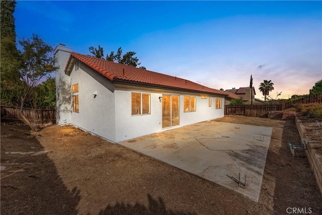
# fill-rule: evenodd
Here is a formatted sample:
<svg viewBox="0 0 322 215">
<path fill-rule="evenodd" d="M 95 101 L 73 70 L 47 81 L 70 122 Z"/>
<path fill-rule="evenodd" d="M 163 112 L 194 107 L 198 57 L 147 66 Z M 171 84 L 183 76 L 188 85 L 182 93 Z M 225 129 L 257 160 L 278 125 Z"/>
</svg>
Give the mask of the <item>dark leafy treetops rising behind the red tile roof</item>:
<svg viewBox="0 0 322 215">
<path fill-rule="evenodd" d="M 89 47 L 89 50 L 93 57 L 104 59 L 104 50 L 100 45 L 98 48 L 91 46 Z M 122 55 L 122 52 L 123 52 L 122 47 L 119 47 L 116 54 L 114 54 L 114 51 L 111 51 L 110 54 L 106 55 L 105 59 L 113 62 L 122 63 L 125 65 L 134 66 L 134 67 L 137 67 L 138 65 L 141 64 L 138 62 L 139 59 L 137 57 L 134 57 L 134 55 L 136 54 L 135 51 L 129 51 L 123 55 Z M 140 66 L 139 68 L 146 69 L 144 66 Z"/>
</svg>

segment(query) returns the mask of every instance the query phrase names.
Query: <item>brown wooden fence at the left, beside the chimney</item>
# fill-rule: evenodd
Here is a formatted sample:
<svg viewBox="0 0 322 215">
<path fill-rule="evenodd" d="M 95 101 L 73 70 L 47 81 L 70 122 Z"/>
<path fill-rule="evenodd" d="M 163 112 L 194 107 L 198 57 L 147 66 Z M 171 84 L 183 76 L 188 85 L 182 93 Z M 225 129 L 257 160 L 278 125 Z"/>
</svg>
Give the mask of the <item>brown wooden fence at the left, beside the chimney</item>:
<svg viewBox="0 0 322 215">
<path fill-rule="evenodd" d="M 19 107 L 1 106 L 1 121 L 21 121 Z M 52 107 L 49 109 L 30 108 L 23 109 L 24 115 L 33 123 L 37 122 L 39 125 L 56 124 L 56 110 Z"/>
</svg>

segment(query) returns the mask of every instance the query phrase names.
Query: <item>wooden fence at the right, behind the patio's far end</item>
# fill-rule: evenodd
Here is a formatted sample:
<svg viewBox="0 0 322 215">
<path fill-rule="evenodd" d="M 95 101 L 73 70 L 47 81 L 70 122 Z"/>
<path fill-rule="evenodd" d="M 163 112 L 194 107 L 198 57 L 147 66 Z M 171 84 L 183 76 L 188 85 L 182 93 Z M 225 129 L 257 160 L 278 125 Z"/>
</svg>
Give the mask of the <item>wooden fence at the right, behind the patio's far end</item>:
<svg viewBox="0 0 322 215">
<path fill-rule="evenodd" d="M 322 93 L 280 104 L 225 105 L 225 115 L 240 114 L 245 116 L 264 117 L 270 111 L 283 111 L 297 103 L 322 103 Z"/>
</svg>

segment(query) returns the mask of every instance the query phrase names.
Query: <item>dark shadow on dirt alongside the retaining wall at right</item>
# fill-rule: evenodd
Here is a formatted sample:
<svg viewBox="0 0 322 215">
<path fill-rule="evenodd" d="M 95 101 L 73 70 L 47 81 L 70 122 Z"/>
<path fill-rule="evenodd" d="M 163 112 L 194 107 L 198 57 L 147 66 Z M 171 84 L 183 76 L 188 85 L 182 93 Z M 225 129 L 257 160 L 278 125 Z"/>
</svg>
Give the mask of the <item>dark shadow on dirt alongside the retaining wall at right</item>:
<svg viewBox="0 0 322 215">
<path fill-rule="evenodd" d="M 293 157 L 287 143 L 299 145 L 295 121 L 286 120 L 282 133 L 282 146 L 272 172 L 276 175 L 274 213 L 287 214 L 287 208 L 322 214 L 322 196 L 306 157 Z M 310 208 L 310 210 L 309 210 Z M 290 211 L 290 209 L 288 209 Z"/>
</svg>

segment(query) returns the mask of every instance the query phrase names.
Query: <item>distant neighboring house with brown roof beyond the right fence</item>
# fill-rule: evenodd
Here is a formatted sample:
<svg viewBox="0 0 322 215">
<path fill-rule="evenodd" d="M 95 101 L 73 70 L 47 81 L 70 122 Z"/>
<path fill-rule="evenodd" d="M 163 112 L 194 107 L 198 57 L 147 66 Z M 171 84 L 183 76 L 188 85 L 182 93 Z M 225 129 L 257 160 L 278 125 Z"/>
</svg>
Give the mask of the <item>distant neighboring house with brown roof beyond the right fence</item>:
<svg viewBox="0 0 322 215">
<path fill-rule="evenodd" d="M 231 99 L 238 99 L 239 97 L 242 97 L 246 104 L 251 104 L 252 100 L 253 100 L 253 104 L 264 103 L 264 101 L 260 99 L 255 99 L 256 91 L 254 87 L 253 87 L 253 94 L 250 87 L 241 87 L 239 89 L 225 90 L 224 93 L 228 94 L 228 96 L 226 96 L 225 104 L 229 104 Z"/>
</svg>

